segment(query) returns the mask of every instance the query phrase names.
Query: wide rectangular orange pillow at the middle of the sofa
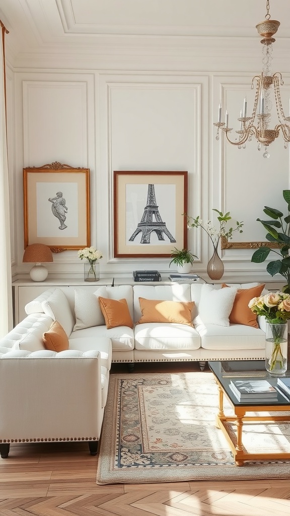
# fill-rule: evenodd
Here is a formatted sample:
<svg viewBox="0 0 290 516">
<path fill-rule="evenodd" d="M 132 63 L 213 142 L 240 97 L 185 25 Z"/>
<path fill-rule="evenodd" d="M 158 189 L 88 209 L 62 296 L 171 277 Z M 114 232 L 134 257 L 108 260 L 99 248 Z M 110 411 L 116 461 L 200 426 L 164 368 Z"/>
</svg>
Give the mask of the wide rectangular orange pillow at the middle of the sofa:
<svg viewBox="0 0 290 516">
<path fill-rule="evenodd" d="M 138 324 L 143 324 L 143 322 L 175 322 L 194 326 L 191 320 L 194 301 L 163 301 L 139 297 L 139 302 L 142 317 L 138 320 Z"/>
</svg>

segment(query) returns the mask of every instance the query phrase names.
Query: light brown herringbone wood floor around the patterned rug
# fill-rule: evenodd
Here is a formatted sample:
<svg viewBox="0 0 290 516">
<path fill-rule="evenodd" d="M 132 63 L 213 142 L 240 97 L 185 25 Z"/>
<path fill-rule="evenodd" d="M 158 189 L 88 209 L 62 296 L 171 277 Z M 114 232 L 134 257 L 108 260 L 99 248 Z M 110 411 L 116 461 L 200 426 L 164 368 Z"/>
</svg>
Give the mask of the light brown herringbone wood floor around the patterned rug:
<svg viewBox="0 0 290 516">
<path fill-rule="evenodd" d="M 197 370 L 140 364 L 136 373 Z M 127 372 L 125 366 L 112 373 Z M 206 373 L 204 373 L 206 374 Z M 12 453 L 13 449 L 13 453 Z M 97 486 L 85 443 L 14 444 L 0 459 L 0 516 L 284 516 L 290 480 Z"/>
</svg>

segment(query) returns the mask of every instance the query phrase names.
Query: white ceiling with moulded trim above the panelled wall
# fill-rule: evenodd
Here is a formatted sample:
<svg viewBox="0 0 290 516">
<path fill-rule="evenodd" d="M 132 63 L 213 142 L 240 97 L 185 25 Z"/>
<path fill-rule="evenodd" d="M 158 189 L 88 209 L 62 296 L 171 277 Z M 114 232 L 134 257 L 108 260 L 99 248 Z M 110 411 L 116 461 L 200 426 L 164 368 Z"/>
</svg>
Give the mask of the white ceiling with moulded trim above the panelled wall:
<svg viewBox="0 0 290 516">
<path fill-rule="evenodd" d="M 15 59 L 98 46 L 211 38 L 259 38 L 266 0 L 0 0 Z M 270 0 L 280 39 L 290 36 L 290 0 Z M 259 41 L 259 40 L 258 40 Z M 288 43 L 288 41 L 287 41 Z"/>
</svg>

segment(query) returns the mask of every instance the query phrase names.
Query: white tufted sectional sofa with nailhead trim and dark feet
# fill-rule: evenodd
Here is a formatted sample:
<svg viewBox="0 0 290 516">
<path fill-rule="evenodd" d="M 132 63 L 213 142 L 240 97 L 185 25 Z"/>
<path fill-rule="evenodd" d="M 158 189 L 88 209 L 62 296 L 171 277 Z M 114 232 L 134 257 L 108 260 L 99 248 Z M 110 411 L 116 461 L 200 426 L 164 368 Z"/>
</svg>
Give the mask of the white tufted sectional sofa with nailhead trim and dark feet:
<svg viewBox="0 0 290 516">
<path fill-rule="evenodd" d="M 88 441 L 95 454 L 111 362 L 132 366 L 135 362 L 198 361 L 202 368 L 208 360 L 264 359 L 263 318 L 258 318 L 257 328 L 229 322 L 237 288 L 251 293 L 248 289 L 256 285 L 47 289 L 26 305 L 27 317 L 0 340 L 1 456 L 8 457 L 10 442 L 58 440 Z M 105 324 L 99 297 L 117 307 L 106 321 L 108 325 L 110 320 L 111 328 Z M 125 303 L 120 300 L 124 299 L 129 315 L 123 324 Z M 156 300 L 163 306 L 169 302 L 166 310 L 169 307 L 170 314 L 162 314 L 164 322 L 158 319 L 160 303 Z M 141 311 L 141 301 L 146 310 Z M 152 310 L 152 303 L 157 310 Z M 179 318 L 172 322 L 180 306 L 187 316 L 189 310 L 185 324 L 183 315 L 182 322 Z M 139 322 L 141 318 L 145 321 Z M 43 334 L 50 332 L 53 321 L 59 323 L 68 342 L 62 351 L 44 345 Z"/>
</svg>

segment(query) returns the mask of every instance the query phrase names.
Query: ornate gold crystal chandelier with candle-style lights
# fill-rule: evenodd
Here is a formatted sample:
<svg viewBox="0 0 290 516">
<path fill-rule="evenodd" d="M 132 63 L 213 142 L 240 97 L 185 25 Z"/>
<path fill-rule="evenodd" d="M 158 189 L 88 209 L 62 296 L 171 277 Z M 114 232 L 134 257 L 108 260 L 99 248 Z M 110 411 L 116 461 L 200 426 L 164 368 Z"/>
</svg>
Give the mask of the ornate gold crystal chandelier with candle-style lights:
<svg viewBox="0 0 290 516">
<path fill-rule="evenodd" d="M 246 147 L 246 141 L 251 141 L 254 137 L 258 142 L 258 149 L 265 147 L 263 156 L 269 157 L 268 146 L 274 141 L 280 134 L 284 138 L 284 148 L 287 149 L 288 142 L 290 141 L 290 116 L 285 117 L 284 110 L 281 101 L 280 85 L 282 86 L 283 79 L 280 72 L 272 74 L 272 43 L 275 39 L 272 37 L 277 33 L 280 22 L 277 20 L 271 20 L 269 14 L 269 0 L 266 3 L 267 14 L 265 15 L 265 21 L 258 23 L 256 29 L 262 37 L 261 43 L 263 45 L 263 69 L 261 75 L 255 75 L 252 79 L 251 89 L 255 88 L 255 99 L 254 106 L 251 116 L 247 117 L 247 97 L 244 98 L 243 110 L 240 111 L 239 131 L 236 131 L 238 135 L 235 141 L 230 140 L 229 133 L 233 130 L 229 127 L 229 114 L 225 112 L 225 122 L 221 121 L 221 104 L 218 110 L 218 122 L 214 123 L 217 127 L 216 139 L 219 140 L 219 130 L 225 134 L 225 138 L 232 145 L 236 145 L 239 149 Z M 278 124 L 275 128 L 269 128 L 271 124 L 271 109 L 272 109 L 272 96 L 275 97 L 276 110 L 278 115 Z"/>
</svg>

